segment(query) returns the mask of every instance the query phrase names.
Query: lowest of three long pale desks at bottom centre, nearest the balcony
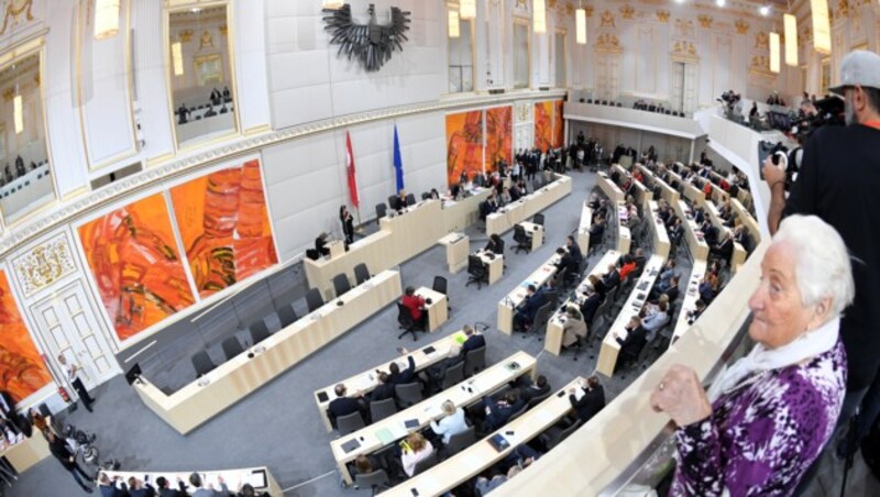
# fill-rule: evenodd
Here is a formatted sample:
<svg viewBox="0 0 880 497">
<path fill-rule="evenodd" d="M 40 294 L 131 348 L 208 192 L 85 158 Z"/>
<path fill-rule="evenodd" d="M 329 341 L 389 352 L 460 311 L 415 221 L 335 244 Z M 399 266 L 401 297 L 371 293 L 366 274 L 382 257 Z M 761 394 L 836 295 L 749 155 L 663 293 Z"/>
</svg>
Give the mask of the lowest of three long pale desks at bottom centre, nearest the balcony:
<svg viewBox="0 0 880 497">
<path fill-rule="evenodd" d="M 569 388 L 575 388 L 585 383 L 582 377 L 571 380 L 564 388 L 557 390 L 557 395 L 551 395 L 541 404 L 527 410 L 519 418 L 510 421 L 504 428 L 498 429 L 485 439 L 474 443 L 468 449 L 459 452 L 452 457 L 441 462 L 425 473 L 420 473 L 406 482 L 397 485 L 388 492 L 386 496 L 413 497 L 414 490 L 420 496 L 442 495 L 452 488 L 468 482 L 479 475 L 495 463 L 502 461 L 517 445 L 528 442 L 547 431 L 565 415 L 571 412 L 571 401 L 569 400 Z M 561 396 L 559 394 L 562 394 Z M 513 434 L 507 434 L 513 432 Z M 502 435 L 510 442 L 510 446 L 502 452 L 496 451 L 488 442 L 495 435 Z M 516 485 L 507 483 L 505 485 Z"/>
</svg>

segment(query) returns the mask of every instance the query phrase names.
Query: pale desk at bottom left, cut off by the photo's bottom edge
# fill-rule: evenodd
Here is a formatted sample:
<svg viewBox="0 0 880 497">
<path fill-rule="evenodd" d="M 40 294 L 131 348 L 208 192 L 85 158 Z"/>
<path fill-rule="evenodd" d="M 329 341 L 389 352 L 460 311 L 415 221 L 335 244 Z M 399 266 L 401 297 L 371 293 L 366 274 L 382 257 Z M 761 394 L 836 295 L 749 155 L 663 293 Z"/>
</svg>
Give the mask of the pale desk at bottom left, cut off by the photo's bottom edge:
<svg viewBox="0 0 880 497">
<path fill-rule="evenodd" d="M 143 479 L 144 475 L 150 476 L 150 484 L 155 486 L 156 479 L 161 476 L 168 481 L 169 488 L 177 488 L 177 478 L 183 479 L 187 486 L 191 488 L 189 485 L 189 475 L 194 472 L 167 472 L 167 471 L 105 471 L 107 476 L 113 478 L 119 476 L 123 482 L 128 482 L 130 477 L 134 476 L 138 479 Z M 261 467 L 248 467 L 242 470 L 222 470 L 222 471 L 196 471 L 199 475 L 201 475 L 201 481 L 205 487 L 211 485 L 216 490 L 220 490 L 220 482 L 219 477 L 223 478 L 226 482 L 229 492 L 233 495 L 238 495 L 239 489 L 245 483 L 250 483 L 251 486 L 254 487 L 257 494 L 263 492 L 268 493 L 272 497 L 282 497 L 284 493 L 282 492 L 280 485 L 275 482 L 275 478 L 272 476 L 272 473 L 268 472 L 266 466 Z"/>
</svg>

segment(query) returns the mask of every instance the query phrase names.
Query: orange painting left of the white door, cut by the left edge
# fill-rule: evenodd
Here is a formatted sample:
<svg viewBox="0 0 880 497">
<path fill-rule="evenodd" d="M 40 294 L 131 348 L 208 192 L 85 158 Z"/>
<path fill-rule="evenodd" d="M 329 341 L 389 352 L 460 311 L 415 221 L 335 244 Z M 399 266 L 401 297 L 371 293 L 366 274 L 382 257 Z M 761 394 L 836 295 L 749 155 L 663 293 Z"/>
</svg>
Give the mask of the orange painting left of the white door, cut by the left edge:
<svg viewBox="0 0 880 497">
<path fill-rule="evenodd" d="M 0 270 L 0 390 L 19 402 L 52 382 Z"/>
</svg>

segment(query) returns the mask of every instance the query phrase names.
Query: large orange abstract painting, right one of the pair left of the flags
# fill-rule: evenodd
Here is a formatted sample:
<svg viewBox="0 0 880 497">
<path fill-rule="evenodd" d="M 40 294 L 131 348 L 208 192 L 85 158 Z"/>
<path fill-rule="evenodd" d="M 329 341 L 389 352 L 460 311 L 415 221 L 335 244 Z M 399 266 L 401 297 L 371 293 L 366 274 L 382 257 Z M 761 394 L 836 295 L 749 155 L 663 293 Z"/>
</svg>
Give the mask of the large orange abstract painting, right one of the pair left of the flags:
<svg viewBox="0 0 880 497">
<path fill-rule="evenodd" d="M 211 173 L 170 192 L 201 297 L 277 264 L 260 161 Z"/>
</svg>

